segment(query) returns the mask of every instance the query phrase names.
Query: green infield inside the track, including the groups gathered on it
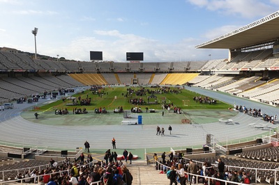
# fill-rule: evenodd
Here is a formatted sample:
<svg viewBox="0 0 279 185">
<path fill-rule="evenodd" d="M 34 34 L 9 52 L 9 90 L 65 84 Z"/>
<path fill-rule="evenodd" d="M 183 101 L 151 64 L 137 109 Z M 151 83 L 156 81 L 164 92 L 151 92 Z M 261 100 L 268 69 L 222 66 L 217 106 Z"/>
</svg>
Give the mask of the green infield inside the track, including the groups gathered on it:
<svg viewBox="0 0 279 185">
<path fill-rule="evenodd" d="M 164 92 L 165 91 L 165 92 Z M 153 92 L 153 93 L 151 93 Z M 195 100 L 194 97 L 201 97 Z M 76 98 L 76 100 L 74 100 Z M 81 106 L 80 100 L 91 99 L 89 105 Z M 142 104 L 132 104 L 132 100 L 142 99 Z M 73 102 L 76 101 L 76 105 Z M 210 103 L 209 103 L 210 102 Z M 67 108 L 68 111 L 73 111 L 74 108 L 86 108 L 86 110 L 95 110 L 96 108 L 105 107 L 106 110 L 114 110 L 122 106 L 123 110 L 130 110 L 137 106 L 141 107 L 142 111 L 148 109 L 162 110 L 162 104 L 172 105 L 172 108 L 190 110 L 227 110 L 232 105 L 220 102 L 218 99 L 211 99 L 197 93 L 180 88 L 130 88 L 130 87 L 107 87 L 96 91 L 86 90 L 83 93 L 77 93 L 73 97 L 67 99 L 59 99 L 56 102 L 40 106 L 40 111 L 53 111 L 57 109 Z"/>
</svg>

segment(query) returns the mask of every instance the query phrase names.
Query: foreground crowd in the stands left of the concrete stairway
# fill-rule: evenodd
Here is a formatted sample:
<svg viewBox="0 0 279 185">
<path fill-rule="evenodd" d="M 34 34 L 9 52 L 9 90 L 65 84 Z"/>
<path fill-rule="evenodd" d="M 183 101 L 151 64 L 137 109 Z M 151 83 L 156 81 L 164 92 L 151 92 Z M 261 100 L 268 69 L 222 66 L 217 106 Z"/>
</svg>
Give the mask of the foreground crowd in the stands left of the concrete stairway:
<svg viewBox="0 0 279 185">
<path fill-rule="evenodd" d="M 40 185 L 90 185 L 100 181 L 108 185 L 132 184 L 133 175 L 121 161 L 92 163 L 93 159 L 90 154 L 86 160 L 82 155 L 79 161 L 73 163 L 67 157 L 61 163 L 50 159 L 46 168 L 27 170 L 24 174 L 19 173 L 16 179 L 19 179 L 18 182 L 24 179 L 25 183 L 32 182 Z"/>
</svg>

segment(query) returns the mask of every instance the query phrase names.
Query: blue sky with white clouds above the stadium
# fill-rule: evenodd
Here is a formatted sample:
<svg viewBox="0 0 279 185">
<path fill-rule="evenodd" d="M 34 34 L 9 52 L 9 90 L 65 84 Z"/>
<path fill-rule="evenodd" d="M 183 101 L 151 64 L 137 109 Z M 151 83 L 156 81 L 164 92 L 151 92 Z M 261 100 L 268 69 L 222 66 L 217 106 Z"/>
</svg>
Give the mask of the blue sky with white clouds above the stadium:
<svg viewBox="0 0 279 185">
<path fill-rule="evenodd" d="M 278 0 L 0 0 L 0 47 L 89 61 L 145 62 L 227 58 L 227 49 L 196 45 L 279 10 Z"/>
</svg>

